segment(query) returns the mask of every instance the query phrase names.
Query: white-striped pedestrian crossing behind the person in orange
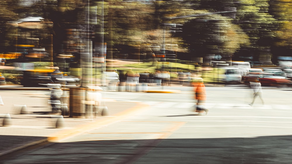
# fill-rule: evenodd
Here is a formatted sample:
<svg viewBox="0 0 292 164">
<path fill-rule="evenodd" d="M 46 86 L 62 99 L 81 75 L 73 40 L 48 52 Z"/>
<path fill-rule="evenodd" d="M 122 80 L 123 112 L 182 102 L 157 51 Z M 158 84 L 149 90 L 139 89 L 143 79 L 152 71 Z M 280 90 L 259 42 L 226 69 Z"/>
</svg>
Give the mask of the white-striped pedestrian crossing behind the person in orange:
<svg viewBox="0 0 292 164">
<path fill-rule="evenodd" d="M 195 103 L 187 102 L 158 102 L 158 101 L 146 101 L 152 108 L 192 108 Z M 206 103 L 207 109 L 281 109 L 281 110 L 292 110 L 292 105 L 283 104 L 254 104 L 250 106 L 244 103 Z"/>
</svg>

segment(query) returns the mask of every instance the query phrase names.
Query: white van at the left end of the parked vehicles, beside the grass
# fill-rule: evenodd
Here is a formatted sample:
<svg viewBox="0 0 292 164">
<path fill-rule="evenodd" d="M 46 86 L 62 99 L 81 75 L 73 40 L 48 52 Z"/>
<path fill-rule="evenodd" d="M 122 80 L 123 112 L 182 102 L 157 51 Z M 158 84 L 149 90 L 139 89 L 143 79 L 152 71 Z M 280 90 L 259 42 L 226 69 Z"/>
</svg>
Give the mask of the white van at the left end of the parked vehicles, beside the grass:
<svg viewBox="0 0 292 164">
<path fill-rule="evenodd" d="M 236 67 L 222 67 L 218 68 L 218 77 L 221 82 L 240 82 L 242 79 L 241 70 Z"/>
</svg>

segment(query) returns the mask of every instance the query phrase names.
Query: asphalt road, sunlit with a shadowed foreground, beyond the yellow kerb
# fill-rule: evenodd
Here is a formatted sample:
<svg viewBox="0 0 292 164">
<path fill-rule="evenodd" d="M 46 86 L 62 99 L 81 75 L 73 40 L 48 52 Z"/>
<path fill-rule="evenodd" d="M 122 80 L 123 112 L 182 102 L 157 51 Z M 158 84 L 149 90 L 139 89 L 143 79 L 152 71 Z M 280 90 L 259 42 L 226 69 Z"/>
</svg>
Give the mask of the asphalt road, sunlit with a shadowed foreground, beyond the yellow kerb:
<svg viewBox="0 0 292 164">
<path fill-rule="evenodd" d="M 291 90 L 207 87 L 208 115 L 194 110 L 192 88 L 178 94 L 105 92 L 145 108 L 2 163 L 291 163 Z"/>
</svg>

